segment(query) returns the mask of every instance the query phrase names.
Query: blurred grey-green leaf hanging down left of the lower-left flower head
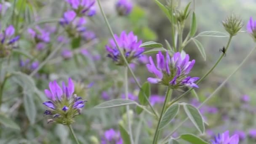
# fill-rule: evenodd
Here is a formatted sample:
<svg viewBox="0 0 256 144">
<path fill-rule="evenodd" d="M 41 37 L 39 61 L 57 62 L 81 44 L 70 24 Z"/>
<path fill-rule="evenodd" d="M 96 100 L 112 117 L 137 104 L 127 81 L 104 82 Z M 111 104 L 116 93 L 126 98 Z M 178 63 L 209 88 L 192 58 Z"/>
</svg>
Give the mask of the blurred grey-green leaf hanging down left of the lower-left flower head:
<svg viewBox="0 0 256 144">
<path fill-rule="evenodd" d="M 24 94 L 23 102 L 24 102 L 24 108 L 25 108 L 25 113 L 27 115 L 27 118 L 29 119 L 29 122 L 33 125 L 35 124 L 37 108 L 35 107 L 35 102 L 33 100 L 31 93 Z"/>
</svg>

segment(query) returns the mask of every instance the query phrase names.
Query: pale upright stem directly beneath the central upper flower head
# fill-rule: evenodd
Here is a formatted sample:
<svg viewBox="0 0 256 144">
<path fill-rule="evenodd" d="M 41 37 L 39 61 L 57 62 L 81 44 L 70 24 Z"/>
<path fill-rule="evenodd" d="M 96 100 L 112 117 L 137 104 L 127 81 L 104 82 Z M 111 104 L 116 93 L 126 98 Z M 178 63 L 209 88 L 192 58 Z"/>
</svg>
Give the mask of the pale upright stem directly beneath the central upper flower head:
<svg viewBox="0 0 256 144">
<path fill-rule="evenodd" d="M 128 99 L 128 69 L 127 69 L 127 67 L 125 67 L 125 80 L 124 80 L 124 84 L 125 84 L 125 99 Z M 126 115 L 127 115 L 127 123 L 128 123 L 130 140 L 131 140 L 131 144 L 134 144 L 129 109 L 130 109 L 130 106 L 126 105 Z"/>
</svg>

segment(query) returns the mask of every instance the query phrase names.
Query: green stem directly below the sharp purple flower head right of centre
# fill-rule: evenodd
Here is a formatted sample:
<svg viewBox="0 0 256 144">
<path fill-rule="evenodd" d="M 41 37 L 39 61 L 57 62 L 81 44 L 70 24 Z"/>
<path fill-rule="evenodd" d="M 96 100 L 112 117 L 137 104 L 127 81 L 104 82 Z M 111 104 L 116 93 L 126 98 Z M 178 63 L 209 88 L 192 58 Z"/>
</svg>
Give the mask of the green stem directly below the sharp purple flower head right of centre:
<svg viewBox="0 0 256 144">
<path fill-rule="evenodd" d="M 158 123 L 157 123 L 157 128 L 156 128 L 156 130 L 155 130 L 155 135 L 154 135 L 154 139 L 153 139 L 153 144 L 156 144 L 156 143 L 157 143 L 157 136 L 158 136 L 159 125 L 160 125 L 160 122 L 161 122 L 161 120 L 162 120 L 163 113 L 164 113 L 164 111 L 165 111 L 165 105 L 166 105 L 167 102 L 168 102 L 168 98 L 170 98 L 169 95 L 171 95 L 171 92 L 172 92 L 172 91 L 171 91 L 171 88 L 168 87 L 168 89 L 167 89 L 167 91 L 166 91 L 166 95 L 165 95 L 165 101 L 164 101 L 164 103 L 163 103 L 162 111 L 161 111 L 161 114 L 160 114 L 160 118 L 159 118 Z"/>
</svg>

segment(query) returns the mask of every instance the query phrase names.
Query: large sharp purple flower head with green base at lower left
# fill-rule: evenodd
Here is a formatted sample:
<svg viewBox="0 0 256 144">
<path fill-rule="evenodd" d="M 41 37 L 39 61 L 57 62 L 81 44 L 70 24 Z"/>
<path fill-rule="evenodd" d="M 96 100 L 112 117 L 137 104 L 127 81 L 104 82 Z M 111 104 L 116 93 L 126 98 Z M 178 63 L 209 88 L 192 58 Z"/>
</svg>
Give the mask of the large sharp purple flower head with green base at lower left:
<svg viewBox="0 0 256 144">
<path fill-rule="evenodd" d="M 49 109 L 45 111 L 45 115 L 50 115 L 51 123 L 61 123 L 70 125 L 74 122 L 73 118 L 80 115 L 81 108 L 84 107 L 86 100 L 76 96 L 74 93 L 75 86 L 72 79 L 69 78 L 68 85 L 62 82 L 62 88 L 57 81 L 49 83 L 50 90 L 45 90 L 45 95 L 50 101 L 45 101 L 43 104 Z"/>
</svg>

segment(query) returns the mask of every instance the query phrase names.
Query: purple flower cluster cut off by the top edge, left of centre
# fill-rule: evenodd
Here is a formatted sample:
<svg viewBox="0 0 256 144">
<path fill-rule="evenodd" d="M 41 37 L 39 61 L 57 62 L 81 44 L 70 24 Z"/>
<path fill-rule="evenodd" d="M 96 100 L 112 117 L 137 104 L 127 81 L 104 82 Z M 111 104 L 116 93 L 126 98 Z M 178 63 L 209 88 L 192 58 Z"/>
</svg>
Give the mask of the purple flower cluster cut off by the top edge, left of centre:
<svg viewBox="0 0 256 144">
<path fill-rule="evenodd" d="M 95 0 L 66 0 L 67 3 L 79 16 L 94 16 L 96 10 L 94 7 Z"/>
</svg>

